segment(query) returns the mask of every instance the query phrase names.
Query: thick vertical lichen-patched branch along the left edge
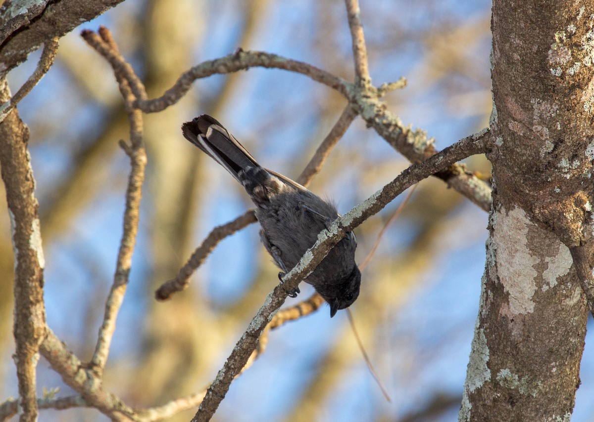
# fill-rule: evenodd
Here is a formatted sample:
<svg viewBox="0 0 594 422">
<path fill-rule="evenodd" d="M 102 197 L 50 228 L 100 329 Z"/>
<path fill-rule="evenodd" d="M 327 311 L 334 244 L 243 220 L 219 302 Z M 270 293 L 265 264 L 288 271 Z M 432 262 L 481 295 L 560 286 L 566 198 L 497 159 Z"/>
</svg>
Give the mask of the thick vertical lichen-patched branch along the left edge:
<svg viewBox="0 0 594 422">
<path fill-rule="evenodd" d="M 10 100 L 6 79 L 0 80 L 0 101 Z M 14 249 L 14 325 L 21 421 L 37 420 L 35 368 L 46 333 L 43 303 L 43 257 L 39 203 L 27 149 L 29 129 L 12 110 L 0 123 L 0 171 L 6 190 Z"/>
</svg>

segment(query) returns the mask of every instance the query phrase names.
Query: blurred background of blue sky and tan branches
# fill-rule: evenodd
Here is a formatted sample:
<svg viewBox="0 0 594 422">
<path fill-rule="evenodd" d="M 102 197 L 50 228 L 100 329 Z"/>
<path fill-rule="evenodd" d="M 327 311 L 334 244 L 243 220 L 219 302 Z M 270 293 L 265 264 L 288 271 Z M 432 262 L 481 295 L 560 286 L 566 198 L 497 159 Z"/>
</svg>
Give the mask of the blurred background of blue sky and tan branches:
<svg viewBox="0 0 594 422">
<path fill-rule="evenodd" d="M 490 3 L 365 0 L 362 19 L 374 84 L 406 76 L 390 110 L 435 137 L 438 148 L 488 125 Z M 304 60 L 352 80 L 342 1 L 128 0 L 91 23 L 112 30 L 150 97 L 182 71 L 237 47 Z M 48 323 L 91 357 L 122 232 L 129 165 L 118 148 L 127 121 L 109 66 L 74 31 L 53 68 L 19 105 L 30 150 L 46 253 Z M 36 57 L 11 73 L 17 89 Z M 346 105 L 336 92 L 290 72 L 250 69 L 197 81 L 189 94 L 145 119 L 149 153 L 131 283 L 118 318 L 106 384 L 128 404 L 150 406 L 200 391 L 277 283 L 257 225 L 225 239 L 165 303 L 153 292 L 175 276 L 215 225 L 250 206 L 180 126 L 201 113 L 223 122 L 266 167 L 295 178 Z M 490 174 L 484 156 L 469 168 Z M 407 166 L 355 120 L 310 188 L 346 212 Z M 361 263 L 403 197 L 356 231 Z M 11 353 L 12 249 L 0 203 L 0 397 L 16 394 Z M 214 420 L 456 420 L 484 267 L 486 213 L 438 180 L 425 180 L 386 231 L 363 272 L 355 322 L 392 402 L 366 369 L 345 312 L 316 314 L 271 333 L 266 353 L 237 379 Z M 298 299 L 312 293 L 302 284 Z M 589 342 L 586 341 L 586 344 Z M 582 380 L 594 368 L 584 354 Z M 590 353 L 591 355 L 591 353 Z M 68 386 L 39 365 L 38 386 Z M 590 420 L 592 387 L 580 388 L 574 420 Z M 41 394 L 41 391 L 40 391 Z M 591 402 L 591 401 L 590 401 Z M 188 420 L 194 411 L 173 420 Z M 44 410 L 40 420 L 96 421 L 96 410 Z"/>
</svg>

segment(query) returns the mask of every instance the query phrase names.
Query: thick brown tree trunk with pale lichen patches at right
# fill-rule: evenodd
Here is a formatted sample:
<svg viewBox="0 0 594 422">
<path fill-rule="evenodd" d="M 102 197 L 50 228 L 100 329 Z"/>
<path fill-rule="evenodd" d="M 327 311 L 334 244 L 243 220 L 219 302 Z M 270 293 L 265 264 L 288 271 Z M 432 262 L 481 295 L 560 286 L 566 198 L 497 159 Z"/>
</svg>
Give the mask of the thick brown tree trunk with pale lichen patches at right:
<svg viewBox="0 0 594 422">
<path fill-rule="evenodd" d="M 594 4 L 495 0 L 493 204 L 460 420 L 569 420 L 592 240 Z"/>
</svg>

